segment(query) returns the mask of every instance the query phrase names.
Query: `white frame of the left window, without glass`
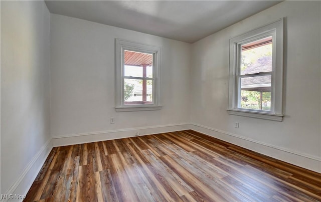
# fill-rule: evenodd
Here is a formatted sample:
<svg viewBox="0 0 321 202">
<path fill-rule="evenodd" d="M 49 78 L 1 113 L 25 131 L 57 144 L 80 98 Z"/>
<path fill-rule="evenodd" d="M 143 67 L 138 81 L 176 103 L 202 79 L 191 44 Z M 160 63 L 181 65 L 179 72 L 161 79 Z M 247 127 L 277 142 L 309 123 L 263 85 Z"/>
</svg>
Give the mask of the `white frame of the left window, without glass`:
<svg viewBox="0 0 321 202">
<path fill-rule="evenodd" d="M 116 39 L 116 112 L 160 110 L 161 105 L 161 47 Z M 153 55 L 152 103 L 124 104 L 124 51 Z"/>
</svg>

